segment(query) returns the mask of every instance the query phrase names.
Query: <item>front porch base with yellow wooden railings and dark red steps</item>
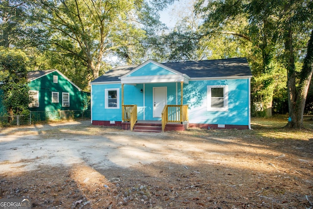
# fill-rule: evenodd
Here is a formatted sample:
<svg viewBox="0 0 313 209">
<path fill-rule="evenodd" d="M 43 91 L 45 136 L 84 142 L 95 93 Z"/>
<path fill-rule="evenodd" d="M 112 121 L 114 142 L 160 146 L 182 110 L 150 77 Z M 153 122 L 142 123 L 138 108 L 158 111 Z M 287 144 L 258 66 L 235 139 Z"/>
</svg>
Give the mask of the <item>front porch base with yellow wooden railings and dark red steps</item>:
<svg viewBox="0 0 313 209">
<path fill-rule="evenodd" d="M 184 131 L 188 105 L 165 105 L 161 120 L 137 120 L 137 105 L 122 105 L 122 129 L 135 132 Z"/>
</svg>

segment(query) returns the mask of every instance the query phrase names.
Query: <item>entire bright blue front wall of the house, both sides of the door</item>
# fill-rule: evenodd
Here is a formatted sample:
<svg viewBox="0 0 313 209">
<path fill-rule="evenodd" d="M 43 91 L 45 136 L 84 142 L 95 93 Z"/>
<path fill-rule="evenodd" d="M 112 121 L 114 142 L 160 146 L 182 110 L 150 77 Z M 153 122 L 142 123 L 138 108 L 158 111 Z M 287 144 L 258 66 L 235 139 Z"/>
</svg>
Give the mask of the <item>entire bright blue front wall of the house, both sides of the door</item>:
<svg viewBox="0 0 313 209">
<path fill-rule="evenodd" d="M 213 85 L 228 85 L 228 111 L 207 111 L 207 86 Z M 153 117 L 153 87 L 167 87 L 167 104 L 180 104 L 180 83 L 125 84 L 124 104 L 137 105 L 138 120 L 161 119 Z M 105 89 L 112 88 L 120 90 L 120 107 L 105 109 Z M 189 123 L 249 125 L 248 90 L 249 79 L 189 81 L 183 85 L 183 104 L 188 104 Z M 93 84 L 92 120 L 121 121 L 121 97 L 121 84 Z"/>
</svg>

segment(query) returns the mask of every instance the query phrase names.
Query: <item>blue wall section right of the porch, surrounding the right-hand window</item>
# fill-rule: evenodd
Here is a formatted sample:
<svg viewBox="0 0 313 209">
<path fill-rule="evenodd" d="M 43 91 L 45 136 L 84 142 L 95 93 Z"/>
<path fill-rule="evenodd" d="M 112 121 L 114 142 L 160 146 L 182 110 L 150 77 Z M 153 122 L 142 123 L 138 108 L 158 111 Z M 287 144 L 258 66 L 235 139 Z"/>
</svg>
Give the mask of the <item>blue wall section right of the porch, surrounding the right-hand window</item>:
<svg viewBox="0 0 313 209">
<path fill-rule="evenodd" d="M 211 85 L 228 85 L 228 111 L 207 111 L 207 86 Z M 248 79 L 190 81 L 183 88 L 189 123 L 249 125 Z"/>
</svg>

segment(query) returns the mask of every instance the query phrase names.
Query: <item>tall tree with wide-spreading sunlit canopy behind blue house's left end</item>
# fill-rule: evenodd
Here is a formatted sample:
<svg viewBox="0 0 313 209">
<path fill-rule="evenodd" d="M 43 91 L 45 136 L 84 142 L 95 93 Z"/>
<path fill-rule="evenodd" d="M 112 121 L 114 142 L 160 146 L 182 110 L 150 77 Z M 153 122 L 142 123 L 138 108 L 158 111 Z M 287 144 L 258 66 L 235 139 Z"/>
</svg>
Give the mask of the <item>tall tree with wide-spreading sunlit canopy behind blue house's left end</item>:
<svg viewBox="0 0 313 209">
<path fill-rule="evenodd" d="M 82 60 L 91 78 L 106 71 L 112 54 L 127 58 L 140 45 L 145 31 L 138 23 L 142 0 L 35 0 L 33 18 L 46 26 L 43 45 Z M 39 8 L 39 9 L 38 9 Z"/>
</svg>

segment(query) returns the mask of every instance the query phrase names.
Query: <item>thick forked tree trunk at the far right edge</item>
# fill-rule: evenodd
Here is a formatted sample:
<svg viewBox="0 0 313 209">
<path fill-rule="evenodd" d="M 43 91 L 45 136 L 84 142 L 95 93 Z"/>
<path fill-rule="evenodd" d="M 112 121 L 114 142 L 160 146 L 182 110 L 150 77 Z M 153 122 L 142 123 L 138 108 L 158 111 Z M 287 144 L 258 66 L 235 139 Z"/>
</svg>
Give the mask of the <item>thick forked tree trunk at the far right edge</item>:
<svg viewBox="0 0 313 209">
<path fill-rule="evenodd" d="M 294 55 L 292 48 L 292 34 L 289 29 L 288 37 L 286 37 L 285 49 L 289 53 L 287 63 L 288 70 L 288 90 L 289 90 L 289 115 L 287 127 L 303 128 L 303 113 L 305 102 L 309 91 L 309 86 L 313 74 L 313 30 L 308 43 L 307 55 L 304 59 L 303 67 L 300 72 L 299 84 L 296 87 L 296 72 L 294 68 Z"/>
</svg>

